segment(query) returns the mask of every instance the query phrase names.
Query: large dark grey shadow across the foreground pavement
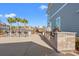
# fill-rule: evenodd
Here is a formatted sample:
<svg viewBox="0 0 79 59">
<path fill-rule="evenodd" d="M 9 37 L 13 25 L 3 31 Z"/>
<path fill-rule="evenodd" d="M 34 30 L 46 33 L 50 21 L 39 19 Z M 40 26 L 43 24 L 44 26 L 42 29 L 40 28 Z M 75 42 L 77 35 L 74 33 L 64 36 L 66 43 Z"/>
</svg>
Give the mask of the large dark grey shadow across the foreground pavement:
<svg viewBox="0 0 79 59">
<path fill-rule="evenodd" d="M 53 52 L 34 42 L 0 44 L 0 56 L 51 56 Z"/>
</svg>

